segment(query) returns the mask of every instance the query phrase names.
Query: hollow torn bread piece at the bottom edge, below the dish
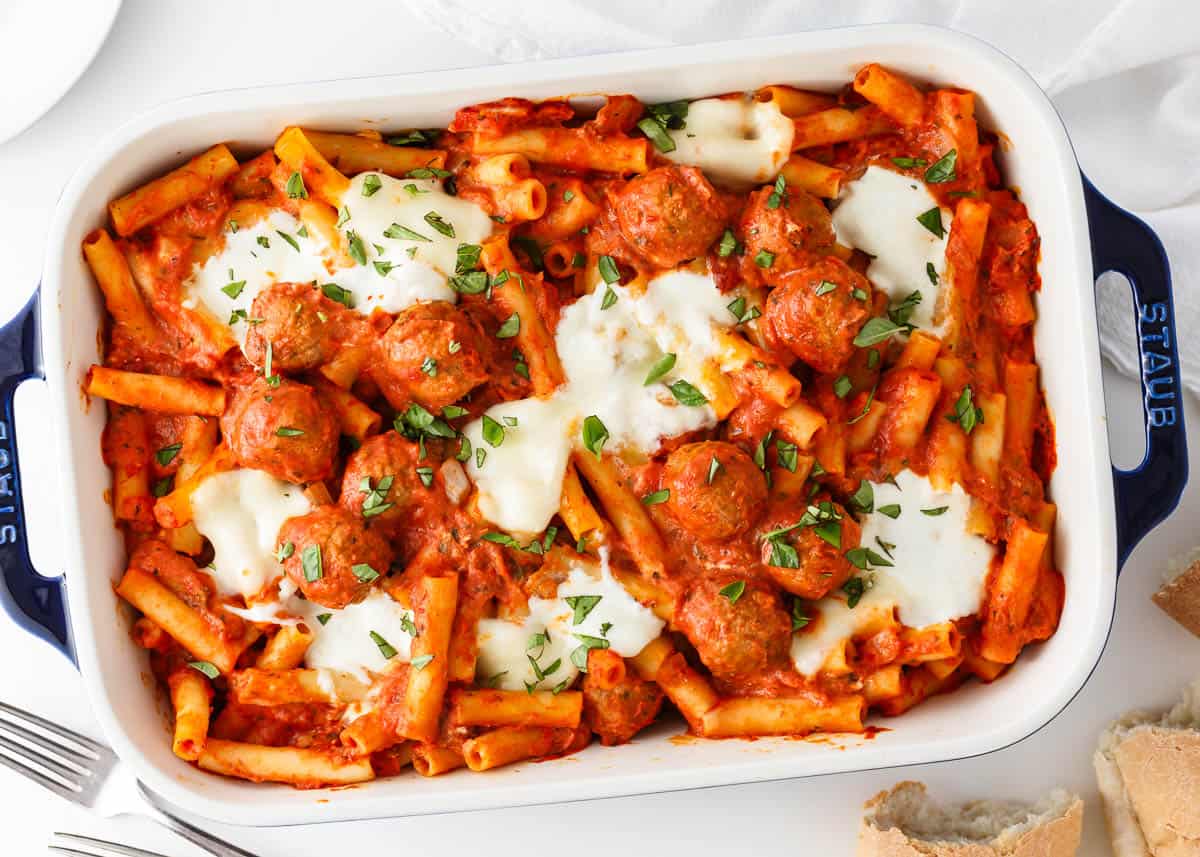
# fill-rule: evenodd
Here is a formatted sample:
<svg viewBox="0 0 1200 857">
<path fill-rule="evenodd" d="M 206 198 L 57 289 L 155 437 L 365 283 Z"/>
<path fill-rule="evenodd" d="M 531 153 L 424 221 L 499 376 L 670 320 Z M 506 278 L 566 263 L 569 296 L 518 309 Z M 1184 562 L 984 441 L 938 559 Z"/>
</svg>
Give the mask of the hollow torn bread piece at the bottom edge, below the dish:
<svg viewBox="0 0 1200 857">
<path fill-rule="evenodd" d="M 1070 857 L 1084 828 L 1084 802 L 1061 789 L 1036 804 L 941 807 L 924 784 L 901 783 L 865 809 L 858 857 Z"/>
</svg>

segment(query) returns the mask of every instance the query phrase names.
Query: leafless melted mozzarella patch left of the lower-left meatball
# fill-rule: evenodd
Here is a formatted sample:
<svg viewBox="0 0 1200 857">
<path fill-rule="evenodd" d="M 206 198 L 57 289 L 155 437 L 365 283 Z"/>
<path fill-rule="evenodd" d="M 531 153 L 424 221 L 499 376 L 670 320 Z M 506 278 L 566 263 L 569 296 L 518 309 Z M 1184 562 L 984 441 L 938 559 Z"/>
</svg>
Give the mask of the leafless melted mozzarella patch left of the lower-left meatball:
<svg viewBox="0 0 1200 857">
<path fill-rule="evenodd" d="M 262 471 L 215 473 L 192 493 L 196 528 L 212 543 L 210 571 L 222 595 L 257 595 L 282 574 L 280 527 L 312 505 L 298 485 Z"/>
</svg>

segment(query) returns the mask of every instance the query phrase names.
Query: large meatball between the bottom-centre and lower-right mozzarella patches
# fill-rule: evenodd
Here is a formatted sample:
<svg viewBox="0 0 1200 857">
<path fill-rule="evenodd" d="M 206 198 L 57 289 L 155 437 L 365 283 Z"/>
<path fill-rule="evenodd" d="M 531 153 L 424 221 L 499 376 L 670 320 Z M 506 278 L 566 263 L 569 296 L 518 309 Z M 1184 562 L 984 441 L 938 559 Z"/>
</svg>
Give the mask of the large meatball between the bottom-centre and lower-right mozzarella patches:
<svg viewBox="0 0 1200 857">
<path fill-rule="evenodd" d="M 734 679 L 782 665 L 792 642 L 792 619 L 779 594 L 757 581 L 740 581 L 740 595 L 721 594 L 737 582 L 732 577 L 697 580 L 676 607 L 676 625 L 718 678 Z"/>
</svg>

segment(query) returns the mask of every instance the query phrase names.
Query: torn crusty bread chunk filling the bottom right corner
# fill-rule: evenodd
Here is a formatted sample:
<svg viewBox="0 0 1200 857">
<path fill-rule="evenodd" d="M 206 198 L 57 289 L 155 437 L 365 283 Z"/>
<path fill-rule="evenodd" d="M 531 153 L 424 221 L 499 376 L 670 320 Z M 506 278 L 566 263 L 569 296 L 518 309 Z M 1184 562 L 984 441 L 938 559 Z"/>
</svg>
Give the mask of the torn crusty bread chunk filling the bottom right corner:
<svg viewBox="0 0 1200 857">
<path fill-rule="evenodd" d="M 1092 761 L 1116 857 L 1200 855 L 1200 681 L 1166 714 L 1114 721 Z"/>
</svg>

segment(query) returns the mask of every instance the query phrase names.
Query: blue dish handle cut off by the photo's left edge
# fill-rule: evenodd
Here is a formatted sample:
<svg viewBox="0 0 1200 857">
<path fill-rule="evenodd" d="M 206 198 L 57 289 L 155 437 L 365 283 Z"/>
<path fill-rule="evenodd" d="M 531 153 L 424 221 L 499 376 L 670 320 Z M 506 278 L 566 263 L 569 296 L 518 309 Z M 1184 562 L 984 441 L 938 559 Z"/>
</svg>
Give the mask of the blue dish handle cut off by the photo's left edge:
<svg viewBox="0 0 1200 857">
<path fill-rule="evenodd" d="M 4 576 L 0 605 L 18 625 L 74 661 L 64 580 L 42 577 L 29 558 L 20 468 L 17 465 L 13 395 L 29 378 L 46 378 L 42 371 L 38 293 L 40 289 L 35 290 L 17 317 L 0 328 L 0 573 Z"/>
</svg>

